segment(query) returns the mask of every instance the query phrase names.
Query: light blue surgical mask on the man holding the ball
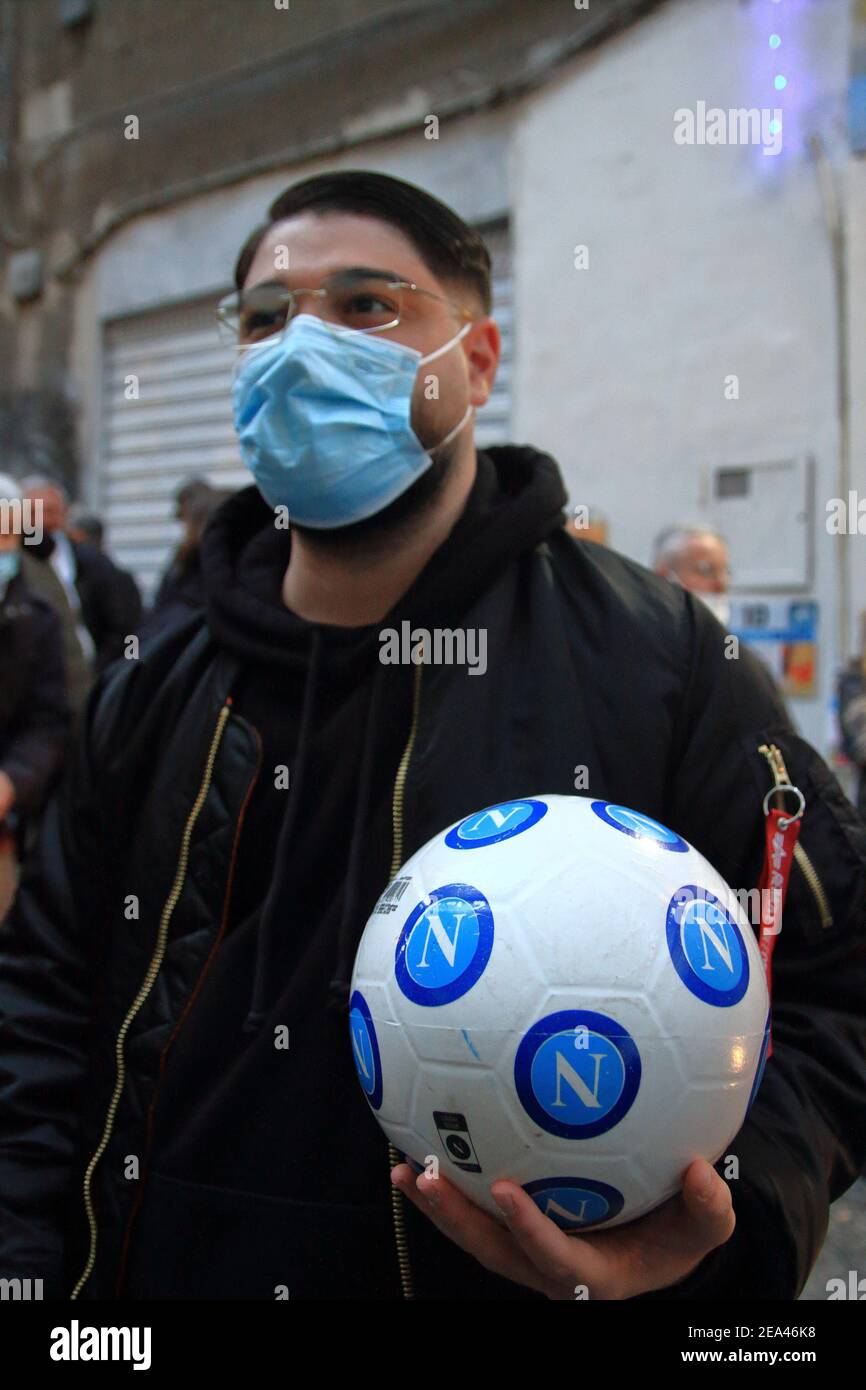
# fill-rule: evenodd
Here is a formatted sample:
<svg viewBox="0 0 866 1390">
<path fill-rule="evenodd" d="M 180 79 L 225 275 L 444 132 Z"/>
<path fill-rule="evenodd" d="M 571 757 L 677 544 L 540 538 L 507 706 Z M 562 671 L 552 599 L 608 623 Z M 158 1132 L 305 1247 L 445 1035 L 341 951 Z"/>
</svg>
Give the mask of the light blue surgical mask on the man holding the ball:
<svg viewBox="0 0 866 1390">
<path fill-rule="evenodd" d="M 434 353 L 297 314 L 284 334 L 245 350 L 232 385 L 240 455 L 272 507 L 300 525 L 350 525 L 375 516 L 430 468 L 411 428 L 418 367 Z M 450 443 L 471 414 L 435 449 Z"/>
</svg>

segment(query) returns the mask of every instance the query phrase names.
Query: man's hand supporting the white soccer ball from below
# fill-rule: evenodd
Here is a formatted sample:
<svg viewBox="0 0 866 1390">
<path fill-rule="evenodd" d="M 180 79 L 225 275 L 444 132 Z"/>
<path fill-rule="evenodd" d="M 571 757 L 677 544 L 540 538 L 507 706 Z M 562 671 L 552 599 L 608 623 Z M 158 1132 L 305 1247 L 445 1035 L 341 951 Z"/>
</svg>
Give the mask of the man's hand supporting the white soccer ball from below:
<svg viewBox="0 0 866 1390">
<path fill-rule="evenodd" d="M 409 1163 L 399 1163 L 391 1180 L 485 1269 L 548 1298 L 571 1300 L 578 1284 L 587 1286 L 589 1298 L 634 1298 L 666 1289 L 724 1244 L 735 1223 L 727 1184 L 702 1158 L 687 1168 L 683 1191 L 663 1207 L 587 1236 L 566 1236 L 517 1183 L 491 1187 L 506 1230 L 445 1177 L 416 1179 Z"/>
</svg>

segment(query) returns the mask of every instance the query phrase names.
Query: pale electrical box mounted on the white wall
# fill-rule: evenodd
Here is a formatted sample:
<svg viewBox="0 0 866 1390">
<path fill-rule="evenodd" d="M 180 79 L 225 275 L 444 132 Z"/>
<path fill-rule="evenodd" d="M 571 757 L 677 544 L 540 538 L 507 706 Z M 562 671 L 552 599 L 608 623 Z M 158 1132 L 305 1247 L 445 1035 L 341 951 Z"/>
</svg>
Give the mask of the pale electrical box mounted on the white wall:
<svg viewBox="0 0 866 1390">
<path fill-rule="evenodd" d="M 812 584 L 813 468 L 808 455 L 714 464 L 706 510 L 728 545 L 731 589 Z"/>
</svg>

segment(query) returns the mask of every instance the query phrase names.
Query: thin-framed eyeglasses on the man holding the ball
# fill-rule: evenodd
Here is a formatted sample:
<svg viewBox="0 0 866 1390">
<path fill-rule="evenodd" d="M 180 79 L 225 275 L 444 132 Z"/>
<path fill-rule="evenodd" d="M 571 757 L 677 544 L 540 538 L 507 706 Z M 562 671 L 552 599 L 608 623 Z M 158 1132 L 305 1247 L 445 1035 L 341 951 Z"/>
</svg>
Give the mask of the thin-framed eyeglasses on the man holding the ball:
<svg viewBox="0 0 866 1390">
<path fill-rule="evenodd" d="M 427 302 L 449 304 L 463 320 L 474 314 L 463 304 L 421 289 L 407 279 L 392 279 L 367 271 L 338 271 L 320 289 L 286 289 L 279 281 L 253 285 L 242 293 L 225 295 L 217 306 L 224 341 L 249 346 L 281 334 L 297 313 L 302 297 L 317 299 L 320 317 L 341 328 L 361 334 L 382 334 L 398 324 L 421 322 Z"/>
</svg>

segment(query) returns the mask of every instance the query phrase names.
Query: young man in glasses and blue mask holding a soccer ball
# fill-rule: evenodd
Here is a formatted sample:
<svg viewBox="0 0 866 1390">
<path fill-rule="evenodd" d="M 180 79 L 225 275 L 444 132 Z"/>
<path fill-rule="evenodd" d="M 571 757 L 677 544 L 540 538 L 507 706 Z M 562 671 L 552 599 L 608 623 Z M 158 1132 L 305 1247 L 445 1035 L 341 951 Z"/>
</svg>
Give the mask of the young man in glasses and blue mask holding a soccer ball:
<svg viewBox="0 0 866 1390">
<path fill-rule="evenodd" d="M 261 491 L 206 532 L 206 617 L 103 677 L 0 942 L 0 1273 L 93 1298 L 795 1297 L 866 1156 L 852 808 L 699 602 L 566 534 L 552 459 L 475 450 L 499 338 L 450 210 L 307 179 L 236 286 Z M 484 678 L 379 660 L 403 620 L 485 632 Z M 346 1008 L 399 863 L 475 809 L 573 794 L 582 764 L 748 888 L 769 745 L 813 874 L 738 1180 L 695 1161 L 663 1208 L 580 1238 L 513 1183 L 506 1227 L 446 1176 L 399 1163 L 392 1187 Z"/>
</svg>

